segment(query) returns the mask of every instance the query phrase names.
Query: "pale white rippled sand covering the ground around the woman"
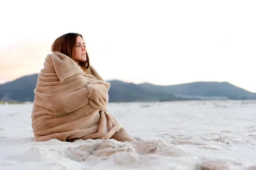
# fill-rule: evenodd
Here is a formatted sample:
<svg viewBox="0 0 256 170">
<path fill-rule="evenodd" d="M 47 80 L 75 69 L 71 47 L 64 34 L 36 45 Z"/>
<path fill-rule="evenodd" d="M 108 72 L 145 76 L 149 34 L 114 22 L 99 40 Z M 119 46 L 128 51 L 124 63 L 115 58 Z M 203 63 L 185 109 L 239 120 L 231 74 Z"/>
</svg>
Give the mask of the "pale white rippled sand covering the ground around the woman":
<svg viewBox="0 0 256 170">
<path fill-rule="evenodd" d="M 1 170 L 256 170 L 256 101 L 110 103 L 130 143 L 35 142 L 31 110 L 0 105 Z"/>
</svg>

